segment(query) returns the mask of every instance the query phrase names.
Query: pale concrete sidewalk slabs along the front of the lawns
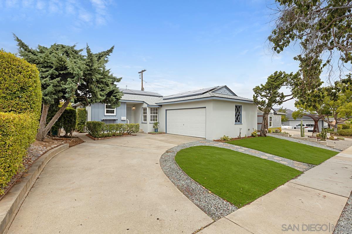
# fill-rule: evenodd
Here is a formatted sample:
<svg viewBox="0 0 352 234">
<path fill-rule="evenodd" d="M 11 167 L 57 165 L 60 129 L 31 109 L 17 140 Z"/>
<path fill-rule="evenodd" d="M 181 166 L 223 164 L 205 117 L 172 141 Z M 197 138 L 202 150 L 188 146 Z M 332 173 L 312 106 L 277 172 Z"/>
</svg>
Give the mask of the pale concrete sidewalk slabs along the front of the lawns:
<svg viewBox="0 0 352 234">
<path fill-rule="evenodd" d="M 352 190 L 352 147 L 199 234 L 332 233 Z M 291 229 L 290 229 L 291 228 Z M 298 229 L 298 230 L 297 230 Z M 326 230 L 325 230 L 326 229 Z"/>
</svg>

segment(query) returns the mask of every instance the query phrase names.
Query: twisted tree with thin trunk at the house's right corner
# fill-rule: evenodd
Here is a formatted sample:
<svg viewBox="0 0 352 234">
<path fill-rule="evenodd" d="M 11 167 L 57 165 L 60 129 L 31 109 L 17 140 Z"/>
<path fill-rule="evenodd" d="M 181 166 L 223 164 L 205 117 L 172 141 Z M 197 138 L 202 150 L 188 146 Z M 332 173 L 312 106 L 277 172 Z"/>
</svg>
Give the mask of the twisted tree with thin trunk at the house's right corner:
<svg viewBox="0 0 352 234">
<path fill-rule="evenodd" d="M 263 85 L 253 88 L 253 101 L 258 106 L 259 111 L 263 112 L 263 122 L 260 128 L 260 136 L 266 136 L 268 131 L 268 116 L 271 108 L 275 105 L 282 105 L 283 102 L 294 98 L 293 94 L 285 95 L 279 90 L 286 86 L 291 87 L 291 84 L 297 79 L 298 73 L 285 73 L 276 71 L 268 76 L 268 80 Z"/>
</svg>

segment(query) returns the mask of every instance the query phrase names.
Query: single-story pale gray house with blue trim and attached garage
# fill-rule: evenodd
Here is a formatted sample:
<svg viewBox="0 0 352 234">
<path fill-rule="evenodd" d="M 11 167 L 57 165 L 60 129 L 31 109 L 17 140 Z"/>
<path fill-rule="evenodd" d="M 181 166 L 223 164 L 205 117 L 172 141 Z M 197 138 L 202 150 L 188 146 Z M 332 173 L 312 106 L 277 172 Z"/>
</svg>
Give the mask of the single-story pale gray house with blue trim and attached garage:
<svg viewBox="0 0 352 234">
<path fill-rule="evenodd" d="M 122 89 L 121 106 L 111 108 L 93 103 L 87 108 L 87 121 L 105 123 L 139 123 L 143 132 L 153 132 L 153 123 L 160 122 L 159 131 L 170 134 L 219 139 L 223 135 L 249 136 L 256 128 L 257 106 L 253 100 L 241 98 L 227 86 L 216 86 L 170 96 Z M 79 104 L 73 105 L 75 108 Z"/>
</svg>

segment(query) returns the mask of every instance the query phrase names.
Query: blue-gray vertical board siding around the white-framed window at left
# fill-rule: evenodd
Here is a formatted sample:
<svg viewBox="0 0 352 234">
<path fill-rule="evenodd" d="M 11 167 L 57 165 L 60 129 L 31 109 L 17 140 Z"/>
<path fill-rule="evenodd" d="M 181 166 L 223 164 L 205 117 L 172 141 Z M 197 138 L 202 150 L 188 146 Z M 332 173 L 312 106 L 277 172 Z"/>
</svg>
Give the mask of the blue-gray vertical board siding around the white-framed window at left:
<svg viewBox="0 0 352 234">
<path fill-rule="evenodd" d="M 121 105 L 116 108 L 116 111 L 115 111 L 116 115 L 105 115 L 104 106 L 105 106 L 104 103 L 100 103 L 100 102 L 96 102 L 91 105 L 92 121 L 103 121 L 105 123 L 127 122 L 126 120 L 121 121 L 121 116 L 126 117 L 126 102 L 121 102 Z"/>
</svg>

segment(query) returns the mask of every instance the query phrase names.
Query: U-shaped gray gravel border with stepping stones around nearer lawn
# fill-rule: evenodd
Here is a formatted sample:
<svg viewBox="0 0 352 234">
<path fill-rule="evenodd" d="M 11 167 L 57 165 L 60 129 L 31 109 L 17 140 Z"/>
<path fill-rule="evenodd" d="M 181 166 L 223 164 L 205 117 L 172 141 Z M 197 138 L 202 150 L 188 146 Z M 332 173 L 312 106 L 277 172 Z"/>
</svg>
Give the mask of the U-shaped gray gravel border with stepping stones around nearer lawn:
<svg viewBox="0 0 352 234">
<path fill-rule="evenodd" d="M 184 143 L 182 145 L 175 146 L 168 149 L 160 157 L 160 166 L 166 176 L 171 180 L 172 183 L 191 200 L 197 207 L 203 210 L 210 218 L 214 221 L 221 219 L 222 217 L 234 212 L 238 208 L 232 205 L 230 202 L 216 196 L 213 193 L 209 193 L 205 187 L 191 179 L 175 162 L 175 156 L 181 149 L 189 148 L 192 146 L 215 146 L 220 148 L 231 149 L 233 151 L 241 152 L 256 156 L 258 158 L 267 159 L 282 163 L 283 165 L 293 167 L 301 172 L 305 172 L 315 165 L 310 165 L 303 162 L 296 162 L 290 159 L 282 158 L 276 155 L 267 154 L 264 152 L 256 151 L 249 148 L 231 145 L 228 143 L 215 142 L 210 140 L 199 140 Z"/>
</svg>

